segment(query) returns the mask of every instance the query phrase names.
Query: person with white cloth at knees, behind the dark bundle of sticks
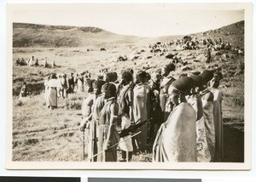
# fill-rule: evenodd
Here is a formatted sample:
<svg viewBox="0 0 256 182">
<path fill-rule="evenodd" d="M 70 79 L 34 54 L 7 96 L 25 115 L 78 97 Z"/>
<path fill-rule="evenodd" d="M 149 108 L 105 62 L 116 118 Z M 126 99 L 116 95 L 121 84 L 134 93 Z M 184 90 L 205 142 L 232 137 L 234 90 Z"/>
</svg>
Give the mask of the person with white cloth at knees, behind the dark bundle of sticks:
<svg viewBox="0 0 256 182">
<path fill-rule="evenodd" d="M 119 117 L 121 117 L 121 129 L 129 128 L 133 119 L 133 90 L 131 82 L 132 74 L 129 71 L 122 73 L 122 82 L 117 93 L 117 101 L 119 104 Z M 119 147 L 122 151 L 122 160 L 120 162 L 131 162 L 132 157 L 132 142 L 131 139 L 126 139 L 131 135 L 120 138 Z M 123 141 L 125 139 L 125 141 Z"/>
</svg>

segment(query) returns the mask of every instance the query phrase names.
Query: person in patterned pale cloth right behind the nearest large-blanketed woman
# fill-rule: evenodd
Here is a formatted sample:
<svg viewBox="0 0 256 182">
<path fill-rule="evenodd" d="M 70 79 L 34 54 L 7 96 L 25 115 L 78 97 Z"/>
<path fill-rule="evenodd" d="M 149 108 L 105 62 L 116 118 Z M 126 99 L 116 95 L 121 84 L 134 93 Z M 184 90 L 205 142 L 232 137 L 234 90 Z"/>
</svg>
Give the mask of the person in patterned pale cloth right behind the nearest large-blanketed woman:
<svg viewBox="0 0 256 182">
<path fill-rule="evenodd" d="M 191 76 L 194 80 L 194 87 L 191 89 L 191 94 L 186 98 L 188 103 L 196 111 L 196 145 L 197 145 L 197 162 L 210 162 L 211 153 L 207 144 L 207 135 L 205 127 L 205 119 L 203 117 L 203 107 L 201 96 L 199 94 L 199 88 L 202 85 L 202 77 L 200 76 Z"/>
</svg>

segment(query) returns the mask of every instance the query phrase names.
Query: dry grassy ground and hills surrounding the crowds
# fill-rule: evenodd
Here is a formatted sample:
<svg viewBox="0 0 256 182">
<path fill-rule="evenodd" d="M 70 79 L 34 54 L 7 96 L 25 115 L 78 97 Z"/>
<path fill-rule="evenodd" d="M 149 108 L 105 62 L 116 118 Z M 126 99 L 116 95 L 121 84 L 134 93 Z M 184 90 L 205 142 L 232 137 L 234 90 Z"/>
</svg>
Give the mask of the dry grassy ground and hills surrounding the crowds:
<svg viewBox="0 0 256 182">
<path fill-rule="evenodd" d="M 233 46 L 243 48 L 244 22 L 225 26 L 218 30 L 191 35 L 212 39 L 219 37 Z M 126 67 L 135 71 L 142 69 L 148 61 L 152 64 L 149 72 L 156 71 L 170 60 L 165 56 L 155 56 L 149 52 L 149 43 L 172 41 L 179 37 L 128 37 L 116 35 L 96 28 L 76 28 L 68 26 L 35 26 L 14 24 L 13 48 L 13 161 L 82 161 L 82 142 L 79 123 L 81 122 L 82 100 L 86 94 L 70 94 L 67 100 L 59 99 L 58 108 L 50 111 L 44 103 L 44 79 L 51 72 L 79 73 L 89 71 L 96 77 L 97 71 L 108 68 L 118 73 Z M 105 48 L 106 51 L 100 51 Z M 197 50 L 169 50 L 178 53 L 188 61 L 193 71 L 203 71 L 214 65 L 222 67 L 224 80 L 221 90 L 224 93 L 224 162 L 244 160 L 244 74 L 236 74 L 244 65 L 244 56 L 229 52 L 212 52 L 212 63 L 206 64 L 207 48 Z M 141 50 L 144 52 L 137 54 Z M 28 67 L 15 65 L 15 60 L 28 60 L 35 56 L 42 64 L 55 60 L 55 68 L 42 66 Z M 117 62 L 120 56 L 128 60 Z M 137 60 L 132 58 L 138 55 Z M 152 56 L 148 58 L 148 56 Z M 199 60 L 199 61 L 195 61 Z M 178 77 L 181 67 L 173 73 Z M 19 100 L 23 82 L 27 82 L 32 93 Z M 119 153 L 120 159 L 120 153 Z M 134 162 L 151 161 L 151 153 L 137 153 Z"/>
</svg>

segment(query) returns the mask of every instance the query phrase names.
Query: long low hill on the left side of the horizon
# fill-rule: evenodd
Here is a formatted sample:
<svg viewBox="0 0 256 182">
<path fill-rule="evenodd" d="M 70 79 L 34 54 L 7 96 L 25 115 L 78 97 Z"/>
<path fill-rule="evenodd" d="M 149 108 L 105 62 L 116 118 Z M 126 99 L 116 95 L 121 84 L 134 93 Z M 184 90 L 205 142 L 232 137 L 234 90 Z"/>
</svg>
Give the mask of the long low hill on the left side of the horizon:
<svg viewBox="0 0 256 182">
<path fill-rule="evenodd" d="M 108 48 L 108 43 L 134 43 L 139 37 L 120 36 L 96 27 L 13 24 L 14 48 Z"/>
</svg>

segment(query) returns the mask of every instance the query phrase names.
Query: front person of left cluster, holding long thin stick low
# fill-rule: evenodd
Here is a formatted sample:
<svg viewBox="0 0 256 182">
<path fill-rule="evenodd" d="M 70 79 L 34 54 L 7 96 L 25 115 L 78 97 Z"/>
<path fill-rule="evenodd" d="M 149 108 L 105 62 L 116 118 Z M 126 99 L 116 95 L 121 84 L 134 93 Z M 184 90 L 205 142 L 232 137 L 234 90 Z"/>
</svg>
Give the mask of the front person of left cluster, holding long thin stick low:
<svg viewBox="0 0 256 182">
<path fill-rule="evenodd" d="M 119 105 L 116 102 L 115 95 L 115 85 L 106 83 L 105 99 L 107 101 L 102 108 L 99 121 L 99 127 L 103 129 L 103 162 L 117 162 L 117 145 L 115 144 L 119 142 L 119 134 L 116 130 Z"/>
</svg>

